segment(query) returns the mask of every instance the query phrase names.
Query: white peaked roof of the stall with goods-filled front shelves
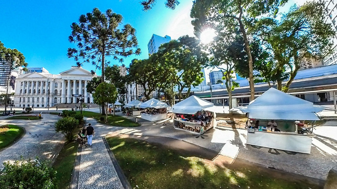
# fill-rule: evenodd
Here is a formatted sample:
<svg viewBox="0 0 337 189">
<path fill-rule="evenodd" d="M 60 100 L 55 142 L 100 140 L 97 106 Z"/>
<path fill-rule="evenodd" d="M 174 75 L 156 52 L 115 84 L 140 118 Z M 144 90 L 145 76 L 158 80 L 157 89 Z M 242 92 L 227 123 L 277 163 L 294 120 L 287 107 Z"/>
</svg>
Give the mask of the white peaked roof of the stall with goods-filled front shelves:
<svg viewBox="0 0 337 189">
<path fill-rule="evenodd" d="M 199 98 L 198 96 L 190 96 L 185 100 L 175 104 L 170 112 L 173 113 L 185 113 L 185 114 L 195 114 L 198 111 L 205 110 L 207 108 L 213 107 L 214 104 Z"/>
</svg>

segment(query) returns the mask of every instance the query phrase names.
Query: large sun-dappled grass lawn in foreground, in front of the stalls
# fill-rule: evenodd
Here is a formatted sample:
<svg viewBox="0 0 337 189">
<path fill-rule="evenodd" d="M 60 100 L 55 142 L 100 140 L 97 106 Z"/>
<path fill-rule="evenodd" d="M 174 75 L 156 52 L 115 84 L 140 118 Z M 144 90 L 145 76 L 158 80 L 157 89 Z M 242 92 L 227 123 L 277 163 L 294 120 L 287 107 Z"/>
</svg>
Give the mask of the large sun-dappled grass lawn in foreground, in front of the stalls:
<svg viewBox="0 0 337 189">
<path fill-rule="evenodd" d="M 182 152 L 132 138 L 106 138 L 132 188 L 139 189 L 318 189 L 246 166 L 220 167 Z M 295 180 L 295 181 L 294 181 Z M 137 186 L 138 185 L 138 186 Z"/>
</svg>

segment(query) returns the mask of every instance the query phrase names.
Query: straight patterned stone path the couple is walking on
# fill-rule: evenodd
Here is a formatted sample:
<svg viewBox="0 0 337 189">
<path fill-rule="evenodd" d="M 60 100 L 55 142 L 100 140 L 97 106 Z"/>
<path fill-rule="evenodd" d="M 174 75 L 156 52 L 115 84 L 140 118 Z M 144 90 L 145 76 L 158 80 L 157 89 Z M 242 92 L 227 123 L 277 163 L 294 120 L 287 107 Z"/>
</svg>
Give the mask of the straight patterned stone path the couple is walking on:
<svg viewBox="0 0 337 189">
<path fill-rule="evenodd" d="M 82 148 L 78 188 L 123 189 L 102 139 L 107 127 L 92 118 L 85 118 L 85 121 L 92 124 L 95 135 L 92 146 Z"/>
</svg>

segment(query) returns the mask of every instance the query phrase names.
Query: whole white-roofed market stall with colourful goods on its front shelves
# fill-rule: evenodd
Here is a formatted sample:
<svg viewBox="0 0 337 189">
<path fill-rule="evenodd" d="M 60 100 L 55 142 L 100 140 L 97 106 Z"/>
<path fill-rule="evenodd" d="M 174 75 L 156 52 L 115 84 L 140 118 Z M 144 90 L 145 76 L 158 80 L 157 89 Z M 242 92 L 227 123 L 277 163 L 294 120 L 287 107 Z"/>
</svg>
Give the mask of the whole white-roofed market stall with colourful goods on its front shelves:
<svg viewBox="0 0 337 189">
<path fill-rule="evenodd" d="M 216 113 L 210 111 L 213 106 L 194 95 L 175 104 L 170 110 L 174 113 L 174 129 L 200 134 L 210 130 L 216 126 Z"/>
</svg>

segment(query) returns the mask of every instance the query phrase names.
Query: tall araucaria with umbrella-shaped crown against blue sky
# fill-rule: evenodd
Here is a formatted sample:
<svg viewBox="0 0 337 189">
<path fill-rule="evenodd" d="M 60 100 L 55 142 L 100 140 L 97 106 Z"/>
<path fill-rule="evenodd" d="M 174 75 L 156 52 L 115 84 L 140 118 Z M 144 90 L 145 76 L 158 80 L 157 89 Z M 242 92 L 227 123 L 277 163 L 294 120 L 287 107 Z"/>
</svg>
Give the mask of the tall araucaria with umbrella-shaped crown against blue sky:
<svg viewBox="0 0 337 189">
<path fill-rule="evenodd" d="M 113 13 L 111 9 L 102 13 L 94 8 L 92 13 L 81 15 L 79 23 L 71 25 L 69 41 L 76 43 L 77 48 L 68 48 L 68 57 L 74 57 L 77 65 L 90 62 L 102 70 L 102 82 L 105 80 L 105 56 L 112 56 L 123 62 L 122 57 L 139 55 L 140 49 L 136 38 L 136 30 L 126 24 L 120 29 L 123 17 Z M 83 59 L 80 62 L 79 59 Z M 103 108 L 103 104 L 102 104 Z M 102 114 L 105 114 L 103 109 Z"/>
</svg>

